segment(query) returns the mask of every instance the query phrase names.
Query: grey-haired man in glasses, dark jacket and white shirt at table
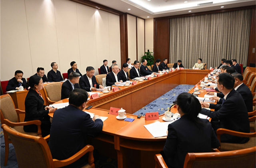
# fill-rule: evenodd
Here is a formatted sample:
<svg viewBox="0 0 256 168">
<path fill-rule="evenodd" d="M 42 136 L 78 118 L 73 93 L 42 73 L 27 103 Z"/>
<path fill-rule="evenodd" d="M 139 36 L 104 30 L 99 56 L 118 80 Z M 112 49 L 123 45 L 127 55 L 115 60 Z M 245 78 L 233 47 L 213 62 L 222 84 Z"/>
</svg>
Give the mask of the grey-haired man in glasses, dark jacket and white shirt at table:
<svg viewBox="0 0 256 168">
<path fill-rule="evenodd" d="M 112 66 L 112 71 L 108 73 L 108 75 L 106 76 L 107 86 L 118 85 L 123 82 L 122 79 L 120 79 L 117 75 L 118 71 L 119 71 L 118 65 L 114 64 Z"/>
</svg>

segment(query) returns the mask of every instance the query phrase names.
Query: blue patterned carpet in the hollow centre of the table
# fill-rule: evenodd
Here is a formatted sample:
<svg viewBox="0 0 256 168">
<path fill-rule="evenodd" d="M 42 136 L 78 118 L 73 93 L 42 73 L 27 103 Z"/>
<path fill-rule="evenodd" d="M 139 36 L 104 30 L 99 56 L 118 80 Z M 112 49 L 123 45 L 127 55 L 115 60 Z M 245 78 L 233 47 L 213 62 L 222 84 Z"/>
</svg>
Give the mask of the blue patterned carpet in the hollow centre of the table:
<svg viewBox="0 0 256 168">
<path fill-rule="evenodd" d="M 168 91 L 161 97 L 158 97 L 158 99 L 152 101 L 145 107 L 142 107 L 142 109 L 136 111 L 133 113 L 134 115 L 139 115 L 142 113 L 142 116 L 145 116 L 145 113 L 150 113 L 150 112 L 157 112 L 159 115 L 163 114 L 165 111 L 168 111 L 173 105 L 173 101 L 176 100 L 176 97 L 183 92 L 188 92 L 190 89 L 192 89 L 194 85 L 178 85 L 174 87 L 172 90 Z"/>
</svg>

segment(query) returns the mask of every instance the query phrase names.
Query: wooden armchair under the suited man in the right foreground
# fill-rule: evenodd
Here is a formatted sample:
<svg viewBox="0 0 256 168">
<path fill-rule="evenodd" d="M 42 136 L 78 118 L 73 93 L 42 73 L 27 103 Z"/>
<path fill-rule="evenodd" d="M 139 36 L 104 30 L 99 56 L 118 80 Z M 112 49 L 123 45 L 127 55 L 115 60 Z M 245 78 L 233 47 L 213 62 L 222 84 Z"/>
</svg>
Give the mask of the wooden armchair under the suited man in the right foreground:
<svg viewBox="0 0 256 168">
<path fill-rule="evenodd" d="M 255 128 L 255 122 L 254 121 L 254 130 Z M 256 146 L 256 132 L 252 133 L 244 133 L 244 132 L 237 132 L 234 130 L 228 130 L 225 128 L 218 128 L 216 131 L 218 140 L 220 141 L 220 135 L 221 134 L 230 134 L 234 136 L 240 136 L 240 137 L 248 137 L 250 140 L 244 144 L 234 144 L 234 143 L 226 143 L 226 142 L 220 142 L 220 150 L 222 151 L 229 151 L 229 150 L 239 150 L 239 149 L 244 149 L 244 148 L 251 148 L 253 146 Z"/>
</svg>

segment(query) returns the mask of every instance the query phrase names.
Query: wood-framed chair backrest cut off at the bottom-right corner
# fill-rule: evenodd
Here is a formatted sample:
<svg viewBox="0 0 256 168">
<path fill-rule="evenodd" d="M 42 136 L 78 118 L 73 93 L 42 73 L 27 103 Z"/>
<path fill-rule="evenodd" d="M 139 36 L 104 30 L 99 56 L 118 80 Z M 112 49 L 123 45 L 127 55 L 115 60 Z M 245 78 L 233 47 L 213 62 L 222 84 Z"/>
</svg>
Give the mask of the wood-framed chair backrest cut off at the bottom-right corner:
<svg viewBox="0 0 256 168">
<path fill-rule="evenodd" d="M 254 168 L 256 146 L 228 152 L 187 153 L 184 168 Z"/>
</svg>

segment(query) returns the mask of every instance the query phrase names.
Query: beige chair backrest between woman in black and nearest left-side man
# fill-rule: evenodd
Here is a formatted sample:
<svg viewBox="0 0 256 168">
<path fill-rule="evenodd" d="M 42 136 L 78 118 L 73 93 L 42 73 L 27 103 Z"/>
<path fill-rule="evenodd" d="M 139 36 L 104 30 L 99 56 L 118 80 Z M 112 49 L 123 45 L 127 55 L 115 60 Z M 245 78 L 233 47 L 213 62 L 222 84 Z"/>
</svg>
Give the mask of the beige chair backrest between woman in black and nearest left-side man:
<svg viewBox="0 0 256 168">
<path fill-rule="evenodd" d="M 59 82 L 49 83 L 43 87 L 43 91 L 46 97 L 49 97 L 51 101 L 61 100 L 61 84 Z"/>
</svg>

